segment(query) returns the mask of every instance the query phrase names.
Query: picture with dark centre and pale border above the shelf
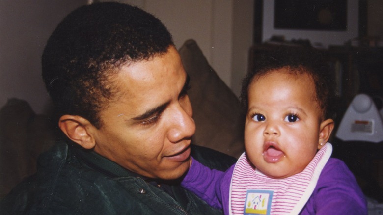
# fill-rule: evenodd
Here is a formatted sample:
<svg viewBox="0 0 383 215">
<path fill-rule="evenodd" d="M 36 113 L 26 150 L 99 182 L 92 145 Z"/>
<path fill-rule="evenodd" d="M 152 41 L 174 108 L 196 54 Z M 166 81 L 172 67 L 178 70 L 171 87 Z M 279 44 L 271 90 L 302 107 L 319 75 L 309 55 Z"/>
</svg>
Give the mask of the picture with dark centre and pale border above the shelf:
<svg viewBox="0 0 383 215">
<path fill-rule="evenodd" d="M 272 36 L 344 45 L 359 36 L 359 0 L 263 0 L 262 42 Z"/>
</svg>

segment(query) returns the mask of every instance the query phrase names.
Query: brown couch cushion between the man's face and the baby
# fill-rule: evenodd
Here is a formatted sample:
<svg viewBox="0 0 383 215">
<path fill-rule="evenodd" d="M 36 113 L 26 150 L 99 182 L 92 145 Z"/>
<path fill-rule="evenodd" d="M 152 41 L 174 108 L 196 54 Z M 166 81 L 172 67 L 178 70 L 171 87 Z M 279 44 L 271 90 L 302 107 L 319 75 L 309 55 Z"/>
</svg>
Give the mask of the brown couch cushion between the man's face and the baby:
<svg viewBox="0 0 383 215">
<path fill-rule="evenodd" d="M 196 132 L 192 143 L 238 158 L 244 152 L 245 115 L 240 101 L 209 65 L 194 40 L 179 49 L 191 78 L 189 97 Z"/>
</svg>

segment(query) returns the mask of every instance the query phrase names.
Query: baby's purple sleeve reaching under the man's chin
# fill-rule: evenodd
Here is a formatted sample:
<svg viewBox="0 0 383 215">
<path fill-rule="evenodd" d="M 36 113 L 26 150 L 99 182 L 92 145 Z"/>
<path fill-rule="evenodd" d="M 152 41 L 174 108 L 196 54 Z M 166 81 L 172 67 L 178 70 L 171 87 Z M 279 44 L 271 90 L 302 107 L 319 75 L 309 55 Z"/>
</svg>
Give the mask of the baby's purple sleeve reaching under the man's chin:
<svg viewBox="0 0 383 215">
<path fill-rule="evenodd" d="M 193 159 L 181 186 L 195 193 L 210 206 L 227 210 L 233 168 L 234 165 L 222 172 L 210 169 Z"/>
</svg>

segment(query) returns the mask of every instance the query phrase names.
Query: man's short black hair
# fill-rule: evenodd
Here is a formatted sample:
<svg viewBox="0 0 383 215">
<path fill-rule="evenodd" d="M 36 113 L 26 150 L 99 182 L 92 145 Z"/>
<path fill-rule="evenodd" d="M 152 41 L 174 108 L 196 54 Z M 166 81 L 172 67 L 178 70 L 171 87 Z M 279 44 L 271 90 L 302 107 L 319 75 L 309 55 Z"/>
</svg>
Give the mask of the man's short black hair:
<svg viewBox="0 0 383 215">
<path fill-rule="evenodd" d="M 109 81 L 123 65 L 174 45 L 164 24 L 128 4 L 82 6 L 58 24 L 42 55 L 42 76 L 57 116 L 79 115 L 100 128 L 99 112 L 115 92 Z"/>
</svg>

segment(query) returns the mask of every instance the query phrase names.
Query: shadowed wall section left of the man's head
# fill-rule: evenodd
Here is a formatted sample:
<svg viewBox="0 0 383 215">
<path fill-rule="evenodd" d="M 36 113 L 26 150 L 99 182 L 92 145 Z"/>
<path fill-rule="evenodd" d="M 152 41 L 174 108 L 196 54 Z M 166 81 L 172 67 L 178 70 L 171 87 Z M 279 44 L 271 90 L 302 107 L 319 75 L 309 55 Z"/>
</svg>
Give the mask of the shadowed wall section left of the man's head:
<svg viewBox="0 0 383 215">
<path fill-rule="evenodd" d="M 44 45 L 64 16 L 86 0 L 0 0 L 0 107 L 8 98 L 29 102 L 37 113 L 49 98 L 40 57 Z"/>
</svg>

